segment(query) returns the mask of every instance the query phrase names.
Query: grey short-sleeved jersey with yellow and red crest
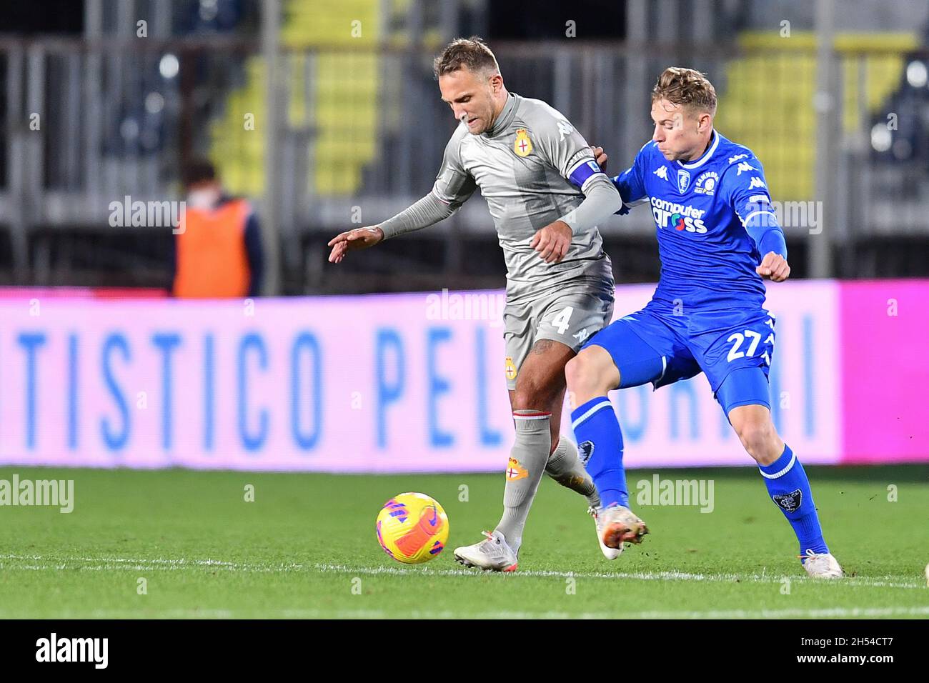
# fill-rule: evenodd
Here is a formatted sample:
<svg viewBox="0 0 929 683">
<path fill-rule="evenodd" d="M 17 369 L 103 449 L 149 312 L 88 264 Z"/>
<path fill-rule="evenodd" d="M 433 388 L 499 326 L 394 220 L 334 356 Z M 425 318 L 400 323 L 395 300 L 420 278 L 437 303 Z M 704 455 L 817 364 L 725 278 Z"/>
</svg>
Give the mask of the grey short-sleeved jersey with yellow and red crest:
<svg viewBox="0 0 929 683">
<path fill-rule="evenodd" d="M 530 247 L 537 230 L 582 203 L 583 191 L 609 183 L 602 173 L 576 174 L 584 166 L 596 168 L 593 153 L 568 119 L 542 100 L 510 93 L 491 130 L 471 135 L 464 123 L 455 130 L 432 193 L 457 208 L 480 188 L 504 249 L 508 299 L 575 282 L 611 291 L 612 266 L 595 226 L 575 227 L 558 263 L 545 263 Z M 581 189 L 570 182 L 572 174 L 584 178 Z"/>
</svg>

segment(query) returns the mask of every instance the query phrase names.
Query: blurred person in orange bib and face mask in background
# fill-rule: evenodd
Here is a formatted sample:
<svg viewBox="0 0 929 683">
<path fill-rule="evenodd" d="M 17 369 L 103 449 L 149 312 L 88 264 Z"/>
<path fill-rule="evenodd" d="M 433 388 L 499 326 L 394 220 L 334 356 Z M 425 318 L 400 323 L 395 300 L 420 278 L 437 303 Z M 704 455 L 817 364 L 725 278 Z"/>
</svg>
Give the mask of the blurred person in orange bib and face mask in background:
<svg viewBox="0 0 929 683">
<path fill-rule="evenodd" d="M 248 201 L 223 191 L 213 164 L 184 169 L 187 190 L 175 242 L 172 294 L 178 298 L 258 296 L 264 276 L 261 230 Z"/>
</svg>

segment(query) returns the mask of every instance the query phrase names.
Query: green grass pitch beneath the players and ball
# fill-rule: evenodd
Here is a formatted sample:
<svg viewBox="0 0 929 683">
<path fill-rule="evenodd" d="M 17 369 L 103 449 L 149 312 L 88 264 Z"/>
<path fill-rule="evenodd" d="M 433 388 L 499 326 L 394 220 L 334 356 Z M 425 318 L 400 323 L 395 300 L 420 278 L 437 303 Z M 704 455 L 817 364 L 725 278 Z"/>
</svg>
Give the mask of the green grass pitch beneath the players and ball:
<svg viewBox="0 0 929 683">
<path fill-rule="evenodd" d="M 753 467 L 658 470 L 713 479 L 709 514 L 636 506 L 653 472 L 629 472 L 651 534 L 613 562 L 582 498 L 545 479 L 513 574 L 465 570 L 451 555 L 499 519 L 502 475 L 4 467 L 0 479 L 73 479 L 74 509 L 0 506 L 0 617 L 929 616 L 929 468 L 807 471 L 849 574 L 838 582 L 805 577 Z M 445 551 L 421 566 L 387 558 L 375 539 L 380 506 L 405 491 L 436 497 L 450 519 Z"/>
</svg>

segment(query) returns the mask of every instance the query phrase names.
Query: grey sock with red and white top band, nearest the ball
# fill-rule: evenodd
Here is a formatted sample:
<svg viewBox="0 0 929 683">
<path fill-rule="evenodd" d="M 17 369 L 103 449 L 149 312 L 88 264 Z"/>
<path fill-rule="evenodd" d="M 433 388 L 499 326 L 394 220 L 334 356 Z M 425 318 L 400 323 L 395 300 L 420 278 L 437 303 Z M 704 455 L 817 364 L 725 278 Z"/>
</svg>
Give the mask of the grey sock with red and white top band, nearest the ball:
<svg viewBox="0 0 929 683">
<path fill-rule="evenodd" d="M 504 516 L 497 524 L 497 531 L 504 534 L 506 543 L 517 552 L 522 545 L 523 527 L 542 481 L 548 453 L 552 450 L 552 433 L 547 414 L 518 410 L 513 412 L 513 418 L 517 439 L 506 466 Z"/>
</svg>

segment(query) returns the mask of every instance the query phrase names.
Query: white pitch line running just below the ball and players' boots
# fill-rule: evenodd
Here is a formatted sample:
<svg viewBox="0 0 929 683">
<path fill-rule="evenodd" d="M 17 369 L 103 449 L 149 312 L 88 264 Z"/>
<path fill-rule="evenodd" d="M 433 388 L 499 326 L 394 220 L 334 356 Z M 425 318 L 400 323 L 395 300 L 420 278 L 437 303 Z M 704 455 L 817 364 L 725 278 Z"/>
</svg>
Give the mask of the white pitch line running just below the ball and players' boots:
<svg viewBox="0 0 929 683">
<path fill-rule="evenodd" d="M 4 565 L 2 560 L 31 560 L 31 561 L 48 561 L 56 563 L 54 567 L 48 565 Z M 289 571 L 336 571 L 347 574 L 365 574 L 378 575 L 386 574 L 392 576 L 478 576 L 484 572 L 467 569 L 449 569 L 438 570 L 428 567 L 419 569 L 402 568 L 402 567 L 350 567 L 344 564 L 324 564 L 314 563 L 304 565 L 295 562 L 275 563 L 254 563 L 254 562 L 233 562 L 218 559 L 187 559 L 187 558 L 46 558 L 39 555 L 0 555 L 0 567 L 10 570 L 32 570 L 45 571 L 47 569 L 63 570 L 67 569 L 69 562 L 84 562 L 89 567 L 72 567 L 80 571 L 111 571 L 111 570 L 179 570 L 189 568 L 213 568 L 224 571 L 246 571 L 246 572 L 289 572 Z M 507 574 L 505 579 L 518 579 L 518 577 L 532 578 L 577 578 L 577 579 L 598 579 L 598 580 L 634 580 L 634 581 L 692 581 L 708 583 L 726 583 L 735 584 L 739 582 L 760 583 L 760 584 L 778 584 L 784 577 L 771 574 L 700 574 L 689 573 L 686 571 L 618 571 L 618 572 L 599 572 L 599 571 L 552 571 L 552 570 L 528 570 L 517 571 L 514 574 Z M 789 576 L 792 582 L 801 584 L 817 582 L 807 576 Z M 827 582 L 822 582 L 826 584 Z M 828 582 L 829 585 L 844 586 L 869 586 L 869 587 L 886 587 L 886 588 L 922 588 L 925 586 L 922 582 L 901 582 L 896 581 L 893 577 L 868 577 L 854 576 L 845 577 L 841 581 Z"/>
</svg>

